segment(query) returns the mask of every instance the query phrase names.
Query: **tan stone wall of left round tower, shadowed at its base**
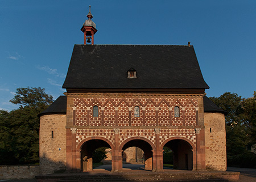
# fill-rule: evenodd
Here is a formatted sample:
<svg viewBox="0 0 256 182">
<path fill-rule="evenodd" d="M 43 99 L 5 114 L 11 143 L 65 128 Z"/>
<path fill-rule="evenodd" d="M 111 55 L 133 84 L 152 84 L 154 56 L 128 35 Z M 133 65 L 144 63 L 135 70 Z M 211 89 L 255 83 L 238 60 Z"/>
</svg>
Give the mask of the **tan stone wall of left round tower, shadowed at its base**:
<svg viewBox="0 0 256 182">
<path fill-rule="evenodd" d="M 65 170 L 66 115 L 40 117 L 39 156 L 42 174 Z"/>
</svg>

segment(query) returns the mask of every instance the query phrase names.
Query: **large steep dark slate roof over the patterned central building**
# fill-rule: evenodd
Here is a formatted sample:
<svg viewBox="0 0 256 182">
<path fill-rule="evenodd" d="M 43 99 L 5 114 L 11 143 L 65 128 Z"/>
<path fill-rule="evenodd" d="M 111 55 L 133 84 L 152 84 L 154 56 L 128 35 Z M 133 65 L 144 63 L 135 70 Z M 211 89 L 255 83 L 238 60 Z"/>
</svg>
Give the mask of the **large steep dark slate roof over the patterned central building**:
<svg viewBox="0 0 256 182">
<path fill-rule="evenodd" d="M 136 79 L 127 79 L 133 67 Z M 75 45 L 63 88 L 209 88 L 188 45 Z"/>
</svg>

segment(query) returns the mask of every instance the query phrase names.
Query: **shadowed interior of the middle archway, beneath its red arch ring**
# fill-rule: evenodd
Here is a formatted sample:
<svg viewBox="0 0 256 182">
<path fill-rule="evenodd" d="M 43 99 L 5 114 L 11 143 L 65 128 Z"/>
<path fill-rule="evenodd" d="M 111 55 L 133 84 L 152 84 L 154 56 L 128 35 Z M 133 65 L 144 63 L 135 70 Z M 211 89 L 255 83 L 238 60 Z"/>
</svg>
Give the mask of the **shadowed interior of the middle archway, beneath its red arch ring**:
<svg viewBox="0 0 256 182">
<path fill-rule="evenodd" d="M 123 145 L 122 147 L 122 151 L 125 151 L 126 149 L 129 149 L 130 147 L 135 147 L 135 149 L 141 149 L 143 151 L 143 154 L 142 154 L 142 159 L 144 157 L 144 163 L 141 163 L 141 164 L 132 164 L 129 165 L 129 166 L 124 166 L 123 165 L 123 168 L 130 168 L 131 170 L 138 170 L 138 169 L 144 169 L 144 170 L 152 170 L 153 168 L 153 165 L 152 165 L 152 158 L 153 158 L 153 154 L 152 154 L 152 146 L 142 140 L 142 139 L 132 139 L 128 142 L 125 143 L 125 145 Z M 138 152 L 139 150 L 137 150 Z M 127 155 L 127 153 L 126 153 Z M 138 156 L 137 156 L 138 157 Z M 137 158 L 138 160 L 138 158 Z M 136 166 L 133 166 L 133 165 L 136 165 Z"/>
</svg>

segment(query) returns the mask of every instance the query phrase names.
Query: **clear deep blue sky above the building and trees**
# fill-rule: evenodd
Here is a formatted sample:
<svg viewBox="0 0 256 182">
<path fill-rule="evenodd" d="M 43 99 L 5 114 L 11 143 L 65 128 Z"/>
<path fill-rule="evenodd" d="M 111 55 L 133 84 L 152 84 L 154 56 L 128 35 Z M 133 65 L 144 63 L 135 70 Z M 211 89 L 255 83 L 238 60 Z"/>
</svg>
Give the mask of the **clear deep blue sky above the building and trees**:
<svg viewBox="0 0 256 182">
<path fill-rule="evenodd" d="M 42 87 L 55 99 L 92 6 L 94 44 L 194 46 L 207 96 L 256 90 L 256 1 L 0 0 L 0 109 L 16 88 Z"/>
</svg>

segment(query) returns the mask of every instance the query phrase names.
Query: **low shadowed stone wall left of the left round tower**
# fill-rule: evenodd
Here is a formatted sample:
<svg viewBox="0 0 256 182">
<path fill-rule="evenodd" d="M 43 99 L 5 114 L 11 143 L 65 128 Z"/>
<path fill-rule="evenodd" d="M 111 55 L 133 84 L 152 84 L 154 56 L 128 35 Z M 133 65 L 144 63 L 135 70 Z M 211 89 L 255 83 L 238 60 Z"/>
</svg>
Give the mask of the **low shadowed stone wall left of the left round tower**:
<svg viewBox="0 0 256 182">
<path fill-rule="evenodd" d="M 38 165 L 31 166 L 0 166 L 0 180 L 31 179 L 40 174 Z"/>
</svg>

